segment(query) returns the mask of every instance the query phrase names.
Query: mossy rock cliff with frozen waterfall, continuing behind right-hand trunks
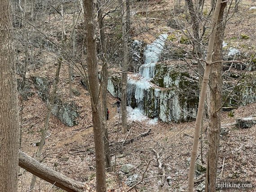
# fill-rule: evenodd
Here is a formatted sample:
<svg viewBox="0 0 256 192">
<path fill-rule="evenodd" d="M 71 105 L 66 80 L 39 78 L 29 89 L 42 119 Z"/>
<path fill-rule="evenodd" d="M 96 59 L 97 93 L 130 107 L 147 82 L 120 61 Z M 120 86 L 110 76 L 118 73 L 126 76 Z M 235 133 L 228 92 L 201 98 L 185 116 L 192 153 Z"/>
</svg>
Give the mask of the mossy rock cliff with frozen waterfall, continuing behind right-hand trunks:
<svg viewBox="0 0 256 192">
<path fill-rule="evenodd" d="M 150 118 L 163 122 L 183 122 L 196 117 L 199 101 L 198 77 L 186 66 L 160 61 L 167 35 L 160 35 L 144 52 L 144 64 L 139 73 L 128 76 L 128 105 L 138 108 Z M 164 54 L 164 52 L 163 52 Z M 224 98 L 233 90 L 239 74 L 227 73 L 224 79 Z M 231 78 L 231 79 L 230 79 Z M 249 80 L 250 79 L 250 80 Z M 109 78 L 108 91 L 121 96 L 121 77 Z M 250 72 L 238 83 L 225 106 L 256 102 L 256 74 Z"/>
</svg>

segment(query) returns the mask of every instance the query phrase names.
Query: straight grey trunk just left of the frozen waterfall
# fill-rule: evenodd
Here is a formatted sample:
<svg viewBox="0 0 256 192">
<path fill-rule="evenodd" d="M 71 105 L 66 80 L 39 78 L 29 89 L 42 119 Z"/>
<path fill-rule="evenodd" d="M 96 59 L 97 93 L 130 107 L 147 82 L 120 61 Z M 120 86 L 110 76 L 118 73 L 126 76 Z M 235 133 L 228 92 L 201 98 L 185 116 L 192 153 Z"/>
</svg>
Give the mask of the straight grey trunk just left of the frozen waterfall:
<svg viewBox="0 0 256 192">
<path fill-rule="evenodd" d="M 120 15 L 122 18 L 122 39 L 123 39 L 123 72 L 122 72 L 122 93 L 121 93 L 121 113 L 122 113 L 122 130 L 121 132 L 124 134 L 127 131 L 127 70 L 128 70 L 128 38 L 127 38 L 127 31 L 125 25 L 125 18 L 124 18 L 124 1 L 119 0 L 120 6 Z"/>
</svg>

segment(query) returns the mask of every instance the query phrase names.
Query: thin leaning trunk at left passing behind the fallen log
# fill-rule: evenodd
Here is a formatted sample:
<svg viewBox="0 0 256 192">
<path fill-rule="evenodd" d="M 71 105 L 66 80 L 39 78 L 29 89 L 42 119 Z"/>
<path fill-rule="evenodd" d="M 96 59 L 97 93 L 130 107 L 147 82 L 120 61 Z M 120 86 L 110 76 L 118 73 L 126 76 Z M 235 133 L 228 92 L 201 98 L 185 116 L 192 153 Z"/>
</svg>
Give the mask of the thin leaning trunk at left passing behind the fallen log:
<svg viewBox="0 0 256 192">
<path fill-rule="evenodd" d="M 55 99 L 56 92 L 57 92 L 57 85 L 59 83 L 59 75 L 60 75 L 61 64 L 62 64 L 62 61 L 58 61 L 58 66 L 57 66 L 57 69 L 56 69 L 55 79 L 54 79 L 54 83 L 53 83 L 53 91 L 52 91 L 52 94 L 50 96 L 48 111 L 46 113 L 46 117 L 45 117 L 45 121 L 44 121 L 44 128 L 41 130 L 42 131 L 41 140 L 40 140 L 40 144 L 39 144 L 39 147 L 37 149 L 37 152 L 35 154 L 36 161 L 40 160 L 42 150 L 43 150 L 43 147 L 44 147 L 46 133 L 48 131 L 49 119 L 50 119 L 52 109 L 53 109 L 53 103 L 54 103 L 54 99 Z M 36 180 L 36 176 L 33 175 L 32 179 L 31 179 L 31 183 L 30 183 L 30 189 L 31 190 L 34 189 L 34 187 L 35 187 L 35 180 Z"/>
</svg>

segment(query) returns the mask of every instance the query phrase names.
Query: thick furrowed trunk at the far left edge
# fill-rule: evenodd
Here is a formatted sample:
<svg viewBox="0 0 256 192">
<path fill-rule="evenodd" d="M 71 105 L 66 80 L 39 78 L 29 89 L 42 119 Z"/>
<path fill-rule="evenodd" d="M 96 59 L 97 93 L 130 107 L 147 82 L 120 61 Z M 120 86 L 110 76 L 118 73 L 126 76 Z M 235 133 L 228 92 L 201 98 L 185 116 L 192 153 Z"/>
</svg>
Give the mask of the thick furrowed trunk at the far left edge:
<svg viewBox="0 0 256 192">
<path fill-rule="evenodd" d="M 11 1 L 0 1 L 0 190 L 17 192 L 19 115 Z"/>
</svg>

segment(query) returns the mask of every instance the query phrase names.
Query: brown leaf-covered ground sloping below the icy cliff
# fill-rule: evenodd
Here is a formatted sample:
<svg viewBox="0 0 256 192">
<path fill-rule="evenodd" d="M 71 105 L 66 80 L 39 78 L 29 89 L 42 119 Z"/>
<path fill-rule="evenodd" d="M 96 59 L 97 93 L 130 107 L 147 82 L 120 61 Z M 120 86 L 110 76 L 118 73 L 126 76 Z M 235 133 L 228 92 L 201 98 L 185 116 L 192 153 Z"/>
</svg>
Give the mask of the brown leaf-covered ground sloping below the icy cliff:
<svg viewBox="0 0 256 192">
<path fill-rule="evenodd" d="M 26 109 L 33 109 L 33 114 L 37 115 L 31 117 L 26 116 L 25 118 L 27 121 L 26 125 L 29 125 L 30 128 L 23 129 L 22 150 L 33 157 L 37 150 L 34 144 L 40 138 L 40 128 L 44 123 L 46 108 L 37 95 L 33 96 L 27 102 Z M 111 144 L 111 162 L 114 169 L 113 172 L 107 173 L 106 175 L 108 190 L 112 192 L 123 192 L 129 188 L 124 183 L 127 175 L 120 171 L 123 165 L 133 165 L 134 170 L 131 171 L 131 174 L 138 174 L 139 179 L 141 179 L 148 162 L 154 158 L 146 171 L 146 177 L 162 175 L 163 173 L 166 175 L 181 176 L 172 177 L 168 182 L 165 177 L 149 179 L 139 184 L 133 191 L 185 191 L 194 135 L 194 121 L 170 124 L 156 122 L 138 113 L 136 110 L 129 109 L 128 122 L 132 125 L 132 128 L 128 133 L 123 135 L 120 133 L 120 126 L 115 126 L 119 122 L 119 113 L 116 113 L 116 108 L 112 105 L 114 102 L 115 100 L 111 96 L 108 96 L 110 109 L 108 129 Z M 89 110 L 89 106 L 86 107 Z M 252 104 L 239 107 L 238 109 L 232 110 L 232 112 L 222 113 L 221 124 L 231 125 L 224 126 L 226 134 L 221 136 L 217 171 L 218 181 L 249 181 L 254 184 L 256 183 L 256 126 L 249 129 L 238 129 L 232 125 L 236 121 L 236 118 L 255 115 L 255 111 L 256 104 Z M 230 117 L 233 115 L 234 117 Z M 27 127 L 26 125 L 24 127 Z M 80 123 L 74 127 L 67 127 L 56 117 L 52 116 L 50 118 L 49 128 L 51 135 L 47 138 L 46 144 L 44 145 L 42 163 L 73 179 L 86 182 L 87 191 L 93 192 L 95 191 L 95 154 L 93 127 L 88 127 L 90 125 L 91 123 Z M 137 135 L 148 131 L 148 129 L 151 129 L 150 135 L 134 140 L 133 143 L 123 146 L 121 144 L 115 144 L 116 140 L 135 138 Z M 207 131 L 203 132 L 202 140 L 203 161 L 205 162 Z M 164 170 L 158 168 L 157 156 L 153 149 L 159 153 Z M 198 154 L 200 154 L 200 150 Z M 201 163 L 200 158 L 198 156 L 197 163 L 206 167 L 204 163 Z M 223 164 L 224 158 L 225 161 Z M 221 173 L 222 167 L 223 171 Z M 29 191 L 31 174 L 25 170 L 22 170 L 22 173 L 22 176 L 19 177 L 20 191 Z M 203 173 L 199 174 L 197 184 L 203 181 L 202 175 Z M 41 179 L 37 179 L 35 191 L 59 192 L 61 190 Z M 234 189 L 231 191 L 234 191 Z M 247 191 L 255 191 L 255 188 L 247 189 Z"/>
</svg>

